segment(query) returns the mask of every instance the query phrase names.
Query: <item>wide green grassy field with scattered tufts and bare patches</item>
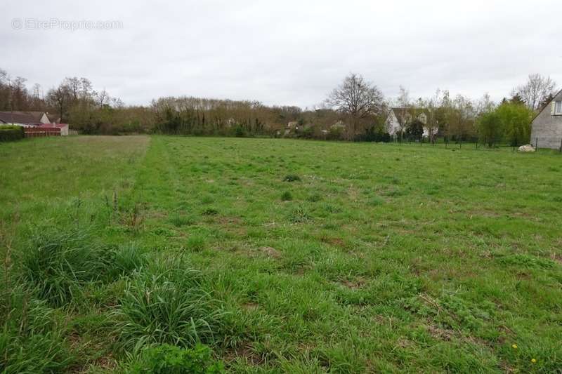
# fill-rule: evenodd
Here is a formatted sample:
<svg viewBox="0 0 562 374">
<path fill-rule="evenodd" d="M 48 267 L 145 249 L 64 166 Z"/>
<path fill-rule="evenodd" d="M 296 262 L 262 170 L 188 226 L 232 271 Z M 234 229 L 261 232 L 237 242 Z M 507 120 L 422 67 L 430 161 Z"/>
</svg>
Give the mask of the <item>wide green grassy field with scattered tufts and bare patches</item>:
<svg viewBox="0 0 562 374">
<path fill-rule="evenodd" d="M 139 136 L 0 156 L 0 371 L 162 352 L 209 373 L 562 371 L 554 152 Z"/>
</svg>

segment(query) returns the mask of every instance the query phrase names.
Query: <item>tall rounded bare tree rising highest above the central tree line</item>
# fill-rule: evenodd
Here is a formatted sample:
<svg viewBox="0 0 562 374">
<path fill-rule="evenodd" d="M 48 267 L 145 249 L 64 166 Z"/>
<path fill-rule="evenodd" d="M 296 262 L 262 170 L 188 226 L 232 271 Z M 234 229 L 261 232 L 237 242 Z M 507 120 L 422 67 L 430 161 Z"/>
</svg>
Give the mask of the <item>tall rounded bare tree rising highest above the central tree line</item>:
<svg viewBox="0 0 562 374">
<path fill-rule="evenodd" d="M 365 81 L 360 74 L 351 73 L 328 95 L 326 103 L 349 116 L 349 138 L 353 138 L 362 121 L 381 112 L 383 100 L 384 96 L 377 86 Z"/>
</svg>

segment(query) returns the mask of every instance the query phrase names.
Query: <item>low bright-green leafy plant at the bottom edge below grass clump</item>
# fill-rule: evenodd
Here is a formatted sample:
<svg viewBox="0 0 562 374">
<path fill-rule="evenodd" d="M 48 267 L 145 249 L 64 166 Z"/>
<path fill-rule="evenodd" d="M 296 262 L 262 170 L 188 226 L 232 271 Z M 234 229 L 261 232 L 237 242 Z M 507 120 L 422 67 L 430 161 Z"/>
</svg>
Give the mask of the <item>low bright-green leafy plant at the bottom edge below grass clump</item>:
<svg viewBox="0 0 562 374">
<path fill-rule="evenodd" d="M 136 363 L 127 370 L 130 374 L 212 374 L 224 373 L 221 362 L 214 361 L 211 349 L 197 344 L 192 349 L 174 345 L 159 345 L 144 349 Z"/>
</svg>

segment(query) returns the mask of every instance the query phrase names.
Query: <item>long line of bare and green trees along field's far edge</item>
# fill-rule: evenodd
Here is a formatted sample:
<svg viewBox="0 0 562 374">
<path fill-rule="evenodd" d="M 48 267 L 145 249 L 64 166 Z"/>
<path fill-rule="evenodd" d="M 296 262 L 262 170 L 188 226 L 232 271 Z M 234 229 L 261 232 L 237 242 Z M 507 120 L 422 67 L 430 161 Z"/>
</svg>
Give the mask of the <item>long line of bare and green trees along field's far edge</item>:
<svg viewBox="0 0 562 374">
<path fill-rule="evenodd" d="M 360 74 L 349 74 L 313 109 L 268 106 L 251 100 L 218 100 L 189 96 L 152 100 L 150 105 L 124 105 L 89 79 L 67 77 L 44 93 L 27 87 L 23 77 L 0 69 L 0 111 L 43 111 L 88 134 L 164 133 L 316 138 L 355 141 L 405 141 L 438 138 L 480 141 L 494 146 L 528 142 L 532 117 L 554 98 L 556 83 L 532 74 L 493 102 L 437 90 L 430 98 L 412 99 L 400 87 L 397 98 L 385 98 Z M 398 128 L 389 128 L 391 109 Z M 424 121 L 420 120 L 420 114 Z"/>
</svg>

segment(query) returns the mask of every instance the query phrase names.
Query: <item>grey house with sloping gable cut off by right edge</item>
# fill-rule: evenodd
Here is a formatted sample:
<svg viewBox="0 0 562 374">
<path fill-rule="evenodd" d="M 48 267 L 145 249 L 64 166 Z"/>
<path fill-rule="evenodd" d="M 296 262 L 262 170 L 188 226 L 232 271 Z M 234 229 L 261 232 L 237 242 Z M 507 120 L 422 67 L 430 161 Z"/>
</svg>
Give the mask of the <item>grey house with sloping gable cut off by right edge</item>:
<svg viewBox="0 0 562 374">
<path fill-rule="evenodd" d="M 532 145 L 558 149 L 562 145 L 562 91 L 548 103 L 531 124 Z"/>
</svg>

